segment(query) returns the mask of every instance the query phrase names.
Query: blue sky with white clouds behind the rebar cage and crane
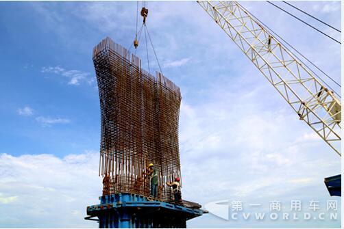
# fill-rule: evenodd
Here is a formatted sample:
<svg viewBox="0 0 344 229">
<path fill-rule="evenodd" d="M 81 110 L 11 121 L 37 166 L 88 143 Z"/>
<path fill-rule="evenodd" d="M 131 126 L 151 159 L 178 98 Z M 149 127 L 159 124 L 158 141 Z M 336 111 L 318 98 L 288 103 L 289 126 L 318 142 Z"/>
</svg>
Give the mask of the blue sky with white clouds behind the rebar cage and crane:
<svg viewBox="0 0 344 229">
<path fill-rule="evenodd" d="M 294 4 L 341 28 L 339 1 Z M 267 2 L 242 5 L 341 81 L 339 44 Z M 298 120 L 206 12 L 191 1 L 149 2 L 148 8 L 147 27 L 162 72 L 182 91 L 183 198 L 203 205 L 295 198 L 340 204 L 323 185 L 324 177 L 339 174 L 340 158 Z M 86 206 L 97 204 L 101 194 L 92 49 L 106 36 L 129 47 L 135 23 L 136 1 L 0 2 L 0 226 L 97 227 L 83 219 Z M 147 68 L 143 40 L 137 55 Z M 157 70 L 152 51 L 149 59 Z M 210 214 L 188 222 L 190 227 L 340 225 L 340 219 L 233 222 Z"/>
</svg>

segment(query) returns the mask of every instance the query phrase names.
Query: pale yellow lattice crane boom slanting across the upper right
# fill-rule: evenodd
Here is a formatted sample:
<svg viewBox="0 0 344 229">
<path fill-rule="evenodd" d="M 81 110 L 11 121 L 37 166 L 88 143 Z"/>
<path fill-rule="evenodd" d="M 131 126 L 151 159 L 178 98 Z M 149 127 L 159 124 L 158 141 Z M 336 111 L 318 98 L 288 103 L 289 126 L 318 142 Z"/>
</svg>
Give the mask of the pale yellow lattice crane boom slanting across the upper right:
<svg viewBox="0 0 344 229">
<path fill-rule="evenodd" d="M 197 1 L 262 72 L 300 120 L 341 155 L 341 102 L 236 1 Z"/>
</svg>

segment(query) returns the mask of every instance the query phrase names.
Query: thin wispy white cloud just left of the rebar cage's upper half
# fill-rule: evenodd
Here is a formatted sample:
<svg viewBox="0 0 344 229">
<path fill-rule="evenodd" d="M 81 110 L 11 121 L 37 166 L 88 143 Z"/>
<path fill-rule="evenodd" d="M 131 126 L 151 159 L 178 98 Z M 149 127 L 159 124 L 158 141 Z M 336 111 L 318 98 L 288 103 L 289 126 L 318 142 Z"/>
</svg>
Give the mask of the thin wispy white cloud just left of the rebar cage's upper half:
<svg viewBox="0 0 344 229">
<path fill-rule="evenodd" d="M 69 78 L 69 85 L 79 85 L 81 81 L 85 81 L 86 83 L 91 84 L 95 81 L 94 77 L 90 77 L 90 73 L 88 72 L 82 72 L 79 70 L 66 70 L 64 68 L 61 68 L 60 66 L 43 67 L 41 72 L 53 73 L 62 77 L 67 77 Z"/>
</svg>

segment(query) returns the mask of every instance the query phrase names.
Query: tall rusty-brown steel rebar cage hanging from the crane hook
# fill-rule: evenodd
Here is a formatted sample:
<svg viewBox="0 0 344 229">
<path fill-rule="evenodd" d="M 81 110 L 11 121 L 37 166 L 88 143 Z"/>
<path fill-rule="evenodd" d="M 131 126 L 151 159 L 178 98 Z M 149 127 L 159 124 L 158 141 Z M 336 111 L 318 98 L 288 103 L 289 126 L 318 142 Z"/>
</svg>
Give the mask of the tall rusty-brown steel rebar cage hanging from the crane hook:
<svg viewBox="0 0 344 229">
<path fill-rule="evenodd" d="M 149 197 L 149 163 L 158 172 L 158 200 L 171 201 L 166 182 L 180 174 L 178 121 L 180 88 L 110 38 L 93 49 L 101 107 L 99 176 L 103 195 Z"/>
</svg>

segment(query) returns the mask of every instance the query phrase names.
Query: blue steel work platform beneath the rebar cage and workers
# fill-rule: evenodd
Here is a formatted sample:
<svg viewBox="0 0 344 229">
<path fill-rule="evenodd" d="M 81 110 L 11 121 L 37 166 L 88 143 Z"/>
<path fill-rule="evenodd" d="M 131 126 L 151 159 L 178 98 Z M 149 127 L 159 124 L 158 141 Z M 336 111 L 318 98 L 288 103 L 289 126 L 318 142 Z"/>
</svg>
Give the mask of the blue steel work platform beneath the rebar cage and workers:
<svg viewBox="0 0 344 229">
<path fill-rule="evenodd" d="M 99 197 L 87 207 L 85 219 L 99 221 L 99 228 L 186 228 L 186 221 L 206 211 L 177 204 L 149 201 L 144 196 L 118 193 Z"/>
</svg>

